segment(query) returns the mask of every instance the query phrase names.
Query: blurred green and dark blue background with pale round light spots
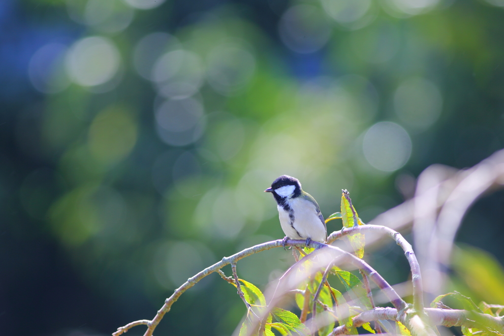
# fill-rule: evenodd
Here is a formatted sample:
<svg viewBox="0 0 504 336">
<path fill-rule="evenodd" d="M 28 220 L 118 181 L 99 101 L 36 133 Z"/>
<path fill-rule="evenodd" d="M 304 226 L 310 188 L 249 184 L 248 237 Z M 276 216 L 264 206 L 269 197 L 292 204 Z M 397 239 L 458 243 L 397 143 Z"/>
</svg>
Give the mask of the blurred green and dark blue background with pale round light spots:
<svg viewBox="0 0 504 336">
<path fill-rule="evenodd" d="M 1 333 L 153 318 L 188 277 L 284 236 L 263 192 L 281 174 L 326 217 L 348 189 L 367 222 L 429 165 L 477 164 L 504 143 L 503 37 L 502 0 L 2 0 Z M 466 216 L 447 290 L 504 304 L 475 281 L 504 274 L 502 204 Z M 365 258 L 408 278 L 395 244 Z M 291 262 L 270 250 L 238 275 L 261 287 Z M 156 334 L 226 335 L 244 312 L 211 275 Z"/>
</svg>

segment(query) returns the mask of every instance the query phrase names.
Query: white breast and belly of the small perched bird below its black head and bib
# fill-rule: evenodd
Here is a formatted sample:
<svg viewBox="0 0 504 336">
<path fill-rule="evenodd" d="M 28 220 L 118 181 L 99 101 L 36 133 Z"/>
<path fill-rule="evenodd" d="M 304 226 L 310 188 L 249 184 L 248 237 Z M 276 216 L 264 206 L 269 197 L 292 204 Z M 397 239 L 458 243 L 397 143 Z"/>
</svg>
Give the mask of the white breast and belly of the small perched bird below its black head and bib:
<svg viewBox="0 0 504 336">
<path fill-rule="evenodd" d="M 289 206 L 294 211 L 294 222 L 291 225 L 289 213 L 278 207 L 280 225 L 285 235 L 292 239 L 306 239 L 324 242 L 326 240 L 326 227 L 317 214 L 317 208 L 301 197 L 291 198 Z"/>
</svg>

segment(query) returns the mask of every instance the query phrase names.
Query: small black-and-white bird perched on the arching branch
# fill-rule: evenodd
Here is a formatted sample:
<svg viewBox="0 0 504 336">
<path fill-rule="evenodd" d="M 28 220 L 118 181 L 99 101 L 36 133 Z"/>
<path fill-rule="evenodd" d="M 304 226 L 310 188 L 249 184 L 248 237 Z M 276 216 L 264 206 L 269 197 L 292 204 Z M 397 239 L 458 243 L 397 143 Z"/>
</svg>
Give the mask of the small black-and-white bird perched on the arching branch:
<svg viewBox="0 0 504 336">
<path fill-rule="evenodd" d="M 297 178 L 282 175 L 264 190 L 271 192 L 277 201 L 280 226 L 285 233 L 282 246 L 287 239 L 305 239 L 306 245 L 311 240 L 325 242 L 327 227 L 317 201 L 301 189 Z"/>
</svg>

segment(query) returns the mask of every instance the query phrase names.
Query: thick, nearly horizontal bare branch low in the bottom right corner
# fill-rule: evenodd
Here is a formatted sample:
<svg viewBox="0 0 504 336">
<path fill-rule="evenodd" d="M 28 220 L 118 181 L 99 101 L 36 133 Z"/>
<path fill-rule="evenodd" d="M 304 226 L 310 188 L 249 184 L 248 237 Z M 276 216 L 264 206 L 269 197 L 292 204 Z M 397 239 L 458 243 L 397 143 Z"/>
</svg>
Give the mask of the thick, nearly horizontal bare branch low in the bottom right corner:
<svg viewBox="0 0 504 336">
<path fill-rule="evenodd" d="M 498 317 L 493 317 L 488 314 L 481 314 L 468 310 L 458 309 L 439 309 L 439 308 L 425 308 L 430 322 L 433 325 L 444 326 L 466 326 L 468 328 L 492 328 L 500 333 L 504 332 L 504 320 Z M 374 308 L 367 310 L 355 316 L 352 321 L 352 326 L 358 327 L 362 324 L 377 321 L 377 320 L 392 320 L 398 321 L 397 309 L 395 308 Z M 333 329 L 328 336 L 336 336 L 348 333 L 346 325 L 340 325 Z"/>
</svg>

